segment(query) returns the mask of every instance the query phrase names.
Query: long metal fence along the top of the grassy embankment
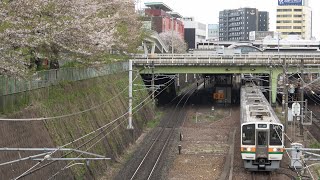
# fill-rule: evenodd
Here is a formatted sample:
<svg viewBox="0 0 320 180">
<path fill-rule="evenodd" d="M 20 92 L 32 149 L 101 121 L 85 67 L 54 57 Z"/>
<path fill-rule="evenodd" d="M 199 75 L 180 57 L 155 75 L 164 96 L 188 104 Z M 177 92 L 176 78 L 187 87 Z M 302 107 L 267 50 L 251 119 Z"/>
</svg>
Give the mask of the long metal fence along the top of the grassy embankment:
<svg viewBox="0 0 320 180">
<path fill-rule="evenodd" d="M 121 62 L 99 67 L 61 68 L 37 72 L 29 80 L 0 76 L 0 96 L 48 87 L 63 81 L 79 81 L 123 72 L 129 69 L 128 66 L 127 62 Z"/>
</svg>

